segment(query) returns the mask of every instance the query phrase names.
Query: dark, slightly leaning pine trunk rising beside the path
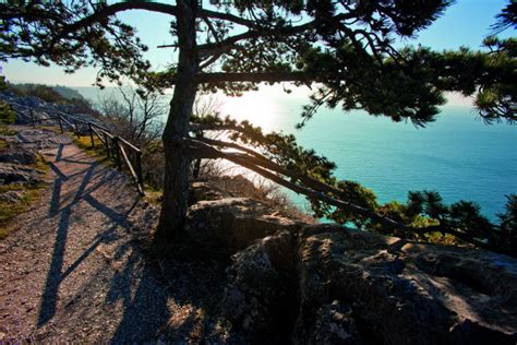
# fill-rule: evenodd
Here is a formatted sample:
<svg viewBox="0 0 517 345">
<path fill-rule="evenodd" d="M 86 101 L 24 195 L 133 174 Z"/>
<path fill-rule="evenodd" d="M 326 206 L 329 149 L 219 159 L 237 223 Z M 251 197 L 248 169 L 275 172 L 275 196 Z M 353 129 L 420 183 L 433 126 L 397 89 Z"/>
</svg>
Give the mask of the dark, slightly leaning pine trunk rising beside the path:
<svg viewBox="0 0 517 345">
<path fill-rule="evenodd" d="M 183 234 L 189 193 L 189 164 L 183 138 L 189 134 L 189 120 L 196 94 L 197 53 L 195 44 L 196 0 L 178 1 L 179 61 L 177 83 L 164 131 L 165 186 L 161 214 L 156 236 L 178 239 Z"/>
</svg>

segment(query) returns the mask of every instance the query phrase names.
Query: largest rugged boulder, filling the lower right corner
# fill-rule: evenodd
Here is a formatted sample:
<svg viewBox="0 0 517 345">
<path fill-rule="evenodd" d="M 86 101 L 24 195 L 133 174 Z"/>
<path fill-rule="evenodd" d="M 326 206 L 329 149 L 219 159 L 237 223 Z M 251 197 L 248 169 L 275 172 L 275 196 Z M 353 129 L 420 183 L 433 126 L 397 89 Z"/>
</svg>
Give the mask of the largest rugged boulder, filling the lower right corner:
<svg viewBox="0 0 517 345">
<path fill-rule="evenodd" d="M 517 341 L 514 258 L 317 225 L 300 235 L 298 267 L 294 343 L 318 343 L 322 330 L 384 344 Z M 335 312 L 344 316 L 341 330 Z"/>
</svg>

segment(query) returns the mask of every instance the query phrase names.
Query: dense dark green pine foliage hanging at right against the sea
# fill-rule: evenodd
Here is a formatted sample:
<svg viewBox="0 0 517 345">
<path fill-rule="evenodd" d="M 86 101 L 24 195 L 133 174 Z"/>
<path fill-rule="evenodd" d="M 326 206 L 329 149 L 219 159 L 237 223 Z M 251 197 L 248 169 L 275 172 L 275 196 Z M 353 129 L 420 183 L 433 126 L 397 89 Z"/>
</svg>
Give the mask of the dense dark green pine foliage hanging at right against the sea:
<svg viewBox="0 0 517 345">
<path fill-rule="evenodd" d="M 416 126 L 434 121 L 444 91 L 466 96 L 478 92 L 476 106 L 486 121 L 517 119 L 517 60 L 515 39 L 486 40 L 492 53 L 470 51 L 434 52 L 429 48 L 406 48 L 396 58 L 364 58 L 351 43 L 334 50 L 308 51 L 304 71 L 318 75 L 323 86 L 311 97 L 302 114 L 303 124 L 317 108 L 341 105 L 344 110 L 364 109 L 394 121 L 411 120 Z"/>
</svg>

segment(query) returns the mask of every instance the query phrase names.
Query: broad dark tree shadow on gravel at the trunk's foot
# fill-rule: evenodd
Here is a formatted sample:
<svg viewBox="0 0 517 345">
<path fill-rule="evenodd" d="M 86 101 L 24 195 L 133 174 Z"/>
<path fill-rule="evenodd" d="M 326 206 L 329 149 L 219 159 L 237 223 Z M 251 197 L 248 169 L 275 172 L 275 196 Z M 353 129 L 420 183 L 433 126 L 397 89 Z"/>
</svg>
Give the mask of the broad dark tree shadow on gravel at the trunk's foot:
<svg viewBox="0 0 517 345">
<path fill-rule="evenodd" d="M 197 258 L 192 250 L 191 258 L 180 258 L 158 254 L 149 243 L 140 248 L 110 283 L 106 304 L 121 301 L 123 314 L 109 342 L 176 344 L 209 338 L 217 328 L 214 309 L 223 297 L 226 263 Z M 124 250 L 119 248 L 116 255 Z"/>
</svg>

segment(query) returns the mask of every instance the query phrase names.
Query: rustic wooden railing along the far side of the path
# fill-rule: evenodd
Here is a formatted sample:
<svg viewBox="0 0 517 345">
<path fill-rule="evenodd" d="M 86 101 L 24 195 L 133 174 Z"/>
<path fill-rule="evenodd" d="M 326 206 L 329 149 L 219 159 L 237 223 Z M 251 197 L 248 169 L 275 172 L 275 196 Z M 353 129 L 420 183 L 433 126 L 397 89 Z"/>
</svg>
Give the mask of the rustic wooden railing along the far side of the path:
<svg viewBox="0 0 517 345">
<path fill-rule="evenodd" d="M 142 151 L 136 145 L 130 143 L 122 136 L 111 133 L 106 127 L 92 121 L 84 121 L 62 111 L 38 110 L 36 108 L 12 103 L 10 103 L 10 105 L 11 109 L 25 117 L 27 115 L 22 112 L 20 109 L 23 108 L 28 110 L 28 117 L 34 127 L 36 127 L 38 122 L 39 124 L 43 124 L 44 121 L 58 121 L 61 133 L 64 133 L 64 128 L 68 127 L 74 132 L 75 135 L 77 135 L 77 138 L 80 138 L 82 133 L 89 134 L 92 148 L 95 147 L 95 136 L 97 136 L 103 143 L 105 148 L 104 151 L 108 158 L 115 159 L 119 170 L 122 170 L 123 166 L 125 165 L 131 174 L 131 177 L 134 179 L 139 193 L 141 195 L 145 195 L 144 178 L 142 175 Z M 46 117 L 36 117 L 36 112 L 45 114 Z M 49 114 L 55 116 L 49 116 Z M 85 129 L 85 131 L 82 131 L 83 129 Z"/>
</svg>

